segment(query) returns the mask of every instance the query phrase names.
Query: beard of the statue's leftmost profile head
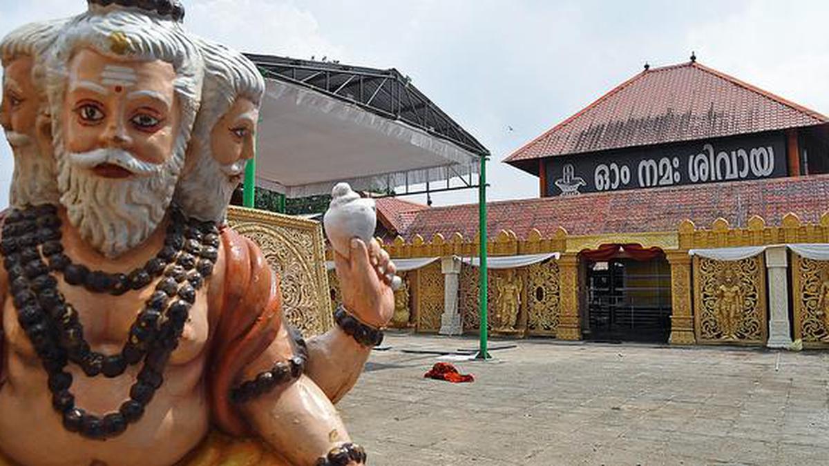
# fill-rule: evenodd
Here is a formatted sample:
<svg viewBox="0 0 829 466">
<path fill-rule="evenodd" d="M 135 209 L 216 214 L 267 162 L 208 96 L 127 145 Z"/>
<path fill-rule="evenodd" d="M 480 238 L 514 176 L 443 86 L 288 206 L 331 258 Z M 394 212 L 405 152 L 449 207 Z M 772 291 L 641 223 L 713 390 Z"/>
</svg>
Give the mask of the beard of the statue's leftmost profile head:
<svg viewBox="0 0 829 466">
<path fill-rule="evenodd" d="M 55 159 L 42 155 L 37 144 L 26 134 L 7 132 L 12 145 L 14 172 L 9 189 L 9 203 L 22 209 L 25 206 L 56 204 L 57 192 Z"/>
</svg>

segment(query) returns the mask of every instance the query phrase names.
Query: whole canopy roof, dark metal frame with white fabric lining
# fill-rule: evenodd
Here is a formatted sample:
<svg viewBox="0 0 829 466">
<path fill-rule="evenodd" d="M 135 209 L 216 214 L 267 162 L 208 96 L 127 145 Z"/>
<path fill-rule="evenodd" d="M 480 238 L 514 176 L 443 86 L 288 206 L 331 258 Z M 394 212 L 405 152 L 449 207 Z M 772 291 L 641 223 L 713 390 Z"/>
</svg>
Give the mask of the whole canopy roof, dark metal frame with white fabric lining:
<svg viewBox="0 0 829 466">
<path fill-rule="evenodd" d="M 248 55 L 267 91 L 257 185 L 304 197 L 347 181 L 381 191 L 478 172 L 486 148 L 399 71 Z"/>
</svg>

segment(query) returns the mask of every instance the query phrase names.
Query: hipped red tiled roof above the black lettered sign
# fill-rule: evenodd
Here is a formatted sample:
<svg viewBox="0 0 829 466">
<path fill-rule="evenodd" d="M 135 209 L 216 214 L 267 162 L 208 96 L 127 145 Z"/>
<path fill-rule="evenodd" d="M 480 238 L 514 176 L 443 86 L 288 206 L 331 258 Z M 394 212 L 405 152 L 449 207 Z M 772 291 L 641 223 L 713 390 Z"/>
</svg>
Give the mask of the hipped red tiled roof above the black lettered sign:
<svg viewBox="0 0 829 466">
<path fill-rule="evenodd" d="M 513 163 L 827 123 L 826 116 L 695 61 L 644 70 L 519 148 Z"/>
</svg>

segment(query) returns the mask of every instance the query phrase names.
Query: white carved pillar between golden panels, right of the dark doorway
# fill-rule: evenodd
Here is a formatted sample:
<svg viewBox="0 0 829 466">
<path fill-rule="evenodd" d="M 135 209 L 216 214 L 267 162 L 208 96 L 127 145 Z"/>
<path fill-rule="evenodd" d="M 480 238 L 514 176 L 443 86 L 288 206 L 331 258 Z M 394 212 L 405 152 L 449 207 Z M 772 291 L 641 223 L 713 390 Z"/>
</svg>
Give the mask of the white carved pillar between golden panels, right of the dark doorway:
<svg viewBox="0 0 829 466">
<path fill-rule="evenodd" d="M 786 246 L 766 249 L 768 273 L 768 343 L 770 348 L 788 348 L 792 336 L 788 325 L 788 251 Z"/>
</svg>

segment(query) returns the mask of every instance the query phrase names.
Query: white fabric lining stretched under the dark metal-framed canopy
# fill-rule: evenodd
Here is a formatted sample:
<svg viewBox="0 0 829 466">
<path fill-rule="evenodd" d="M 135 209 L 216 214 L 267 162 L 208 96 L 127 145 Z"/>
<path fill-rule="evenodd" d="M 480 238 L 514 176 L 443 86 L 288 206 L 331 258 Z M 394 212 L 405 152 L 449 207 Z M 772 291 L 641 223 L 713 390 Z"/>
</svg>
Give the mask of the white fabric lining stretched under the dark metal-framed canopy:
<svg viewBox="0 0 829 466">
<path fill-rule="evenodd" d="M 459 146 L 301 85 L 268 79 L 259 116 L 256 184 L 288 197 L 336 182 L 378 190 L 478 172 Z"/>
</svg>

